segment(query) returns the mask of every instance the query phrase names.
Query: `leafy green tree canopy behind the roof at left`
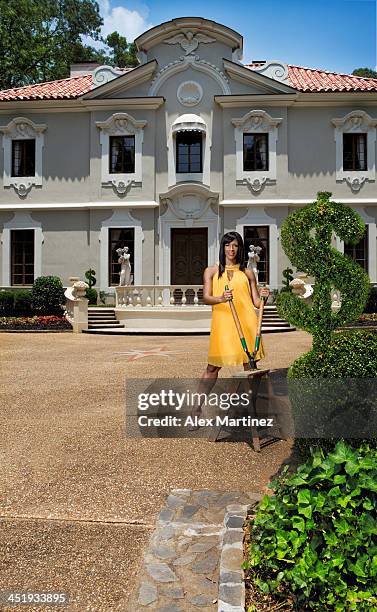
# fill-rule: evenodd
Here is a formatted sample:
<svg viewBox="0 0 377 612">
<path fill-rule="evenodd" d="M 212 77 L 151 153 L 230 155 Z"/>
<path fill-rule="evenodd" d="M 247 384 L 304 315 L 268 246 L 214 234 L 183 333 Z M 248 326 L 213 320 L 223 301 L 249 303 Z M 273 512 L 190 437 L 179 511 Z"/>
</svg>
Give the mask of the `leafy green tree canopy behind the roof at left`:
<svg viewBox="0 0 377 612">
<path fill-rule="evenodd" d="M 103 39 L 102 25 L 96 0 L 0 0 L 0 89 L 67 78 L 80 61 L 135 66 L 135 45 L 118 32 Z"/>
</svg>

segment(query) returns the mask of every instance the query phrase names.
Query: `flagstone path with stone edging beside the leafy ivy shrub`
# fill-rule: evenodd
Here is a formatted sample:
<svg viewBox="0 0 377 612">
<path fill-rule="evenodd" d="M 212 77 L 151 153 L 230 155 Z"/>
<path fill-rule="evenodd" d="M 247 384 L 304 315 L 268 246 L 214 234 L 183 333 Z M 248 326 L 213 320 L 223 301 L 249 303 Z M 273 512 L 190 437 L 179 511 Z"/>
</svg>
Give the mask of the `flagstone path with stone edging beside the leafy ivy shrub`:
<svg viewBox="0 0 377 612">
<path fill-rule="evenodd" d="M 243 524 L 258 493 L 173 489 L 157 518 L 129 610 L 244 610 Z"/>
</svg>

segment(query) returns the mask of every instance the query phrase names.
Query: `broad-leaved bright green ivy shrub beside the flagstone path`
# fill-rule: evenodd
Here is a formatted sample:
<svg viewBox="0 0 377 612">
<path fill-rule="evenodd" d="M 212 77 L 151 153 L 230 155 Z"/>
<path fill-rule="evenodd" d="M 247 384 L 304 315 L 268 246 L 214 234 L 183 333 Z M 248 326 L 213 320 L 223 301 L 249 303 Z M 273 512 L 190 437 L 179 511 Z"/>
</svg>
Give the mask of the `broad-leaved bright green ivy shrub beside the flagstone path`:
<svg viewBox="0 0 377 612">
<path fill-rule="evenodd" d="M 281 478 L 251 525 L 246 566 L 295 609 L 376 610 L 377 450 L 338 442 Z"/>
</svg>

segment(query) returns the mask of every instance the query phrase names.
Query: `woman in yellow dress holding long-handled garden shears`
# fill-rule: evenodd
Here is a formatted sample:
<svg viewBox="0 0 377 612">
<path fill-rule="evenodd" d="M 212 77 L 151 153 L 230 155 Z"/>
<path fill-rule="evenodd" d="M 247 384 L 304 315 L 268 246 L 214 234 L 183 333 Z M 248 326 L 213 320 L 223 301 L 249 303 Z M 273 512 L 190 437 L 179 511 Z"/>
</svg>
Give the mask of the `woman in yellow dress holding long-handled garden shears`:
<svg viewBox="0 0 377 612">
<path fill-rule="evenodd" d="M 222 366 L 247 365 L 249 360 L 244 352 L 235 326 L 228 301 L 233 299 L 246 344 L 253 352 L 257 329 L 257 315 L 260 296 L 265 298 L 269 290 L 257 289 L 255 275 L 245 268 L 244 246 L 237 232 L 228 232 L 222 237 L 219 264 L 204 271 L 203 300 L 212 306 L 212 325 L 208 353 L 208 365 L 203 379 L 216 379 Z M 225 289 L 225 286 L 229 290 Z M 261 342 L 256 361 L 264 357 Z"/>
</svg>

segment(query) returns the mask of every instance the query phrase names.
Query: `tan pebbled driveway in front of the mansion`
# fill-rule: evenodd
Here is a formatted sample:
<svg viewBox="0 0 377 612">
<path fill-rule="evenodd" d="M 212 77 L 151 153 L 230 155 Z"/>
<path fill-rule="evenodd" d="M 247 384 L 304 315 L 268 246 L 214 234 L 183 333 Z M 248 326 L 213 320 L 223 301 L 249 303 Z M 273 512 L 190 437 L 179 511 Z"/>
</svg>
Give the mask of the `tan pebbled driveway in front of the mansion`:
<svg viewBox="0 0 377 612">
<path fill-rule="evenodd" d="M 124 610 L 171 489 L 261 491 L 290 455 L 288 442 L 257 455 L 243 443 L 125 437 L 127 377 L 200 376 L 208 337 L 1 343 L 0 591 L 68 591 L 65 609 Z M 266 336 L 264 365 L 287 367 L 310 344 L 304 332 Z M 27 608 L 38 609 L 48 610 Z"/>
</svg>

